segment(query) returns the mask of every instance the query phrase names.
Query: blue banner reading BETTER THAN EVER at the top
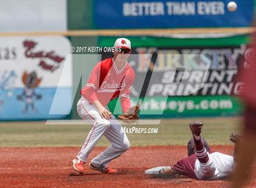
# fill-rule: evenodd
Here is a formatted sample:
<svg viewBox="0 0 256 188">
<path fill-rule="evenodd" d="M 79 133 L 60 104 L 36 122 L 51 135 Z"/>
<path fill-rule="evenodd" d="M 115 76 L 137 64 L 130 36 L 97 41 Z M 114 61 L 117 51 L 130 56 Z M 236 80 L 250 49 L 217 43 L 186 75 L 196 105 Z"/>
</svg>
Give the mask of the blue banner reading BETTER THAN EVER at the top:
<svg viewBox="0 0 256 188">
<path fill-rule="evenodd" d="M 227 10 L 229 0 L 93 2 L 96 29 L 250 27 L 254 19 L 254 0 L 237 0 L 235 12 Z"/>
</svg>

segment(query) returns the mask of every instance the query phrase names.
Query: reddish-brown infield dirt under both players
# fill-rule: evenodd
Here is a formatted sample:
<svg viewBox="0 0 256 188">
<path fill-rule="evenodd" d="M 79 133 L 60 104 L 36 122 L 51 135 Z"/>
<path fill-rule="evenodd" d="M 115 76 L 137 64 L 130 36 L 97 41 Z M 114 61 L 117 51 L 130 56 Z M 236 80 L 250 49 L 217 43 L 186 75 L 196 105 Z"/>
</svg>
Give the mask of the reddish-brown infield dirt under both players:
<svg viewBox="0 0 256 188">
<path fill-rule="evenodd" d="M 96 147 L 89 160 L 104 150 Z M 212 146 L 212 150 L 230 154 L 233 146 Z M 0 187 L 228 187 L 227 180 L 199 181 L 180 177 L 152 178 L 144 170 L 176 163 L 187 155 L 185 146 L 131 147 L 110 166 L 116 175 L 102 175 L 88 169 L 85 175 L 74 173 L 71 161 L 78 147 L 0 148 Z M 256 187 L 256 165 L 248 187 Z"/>
</svg>

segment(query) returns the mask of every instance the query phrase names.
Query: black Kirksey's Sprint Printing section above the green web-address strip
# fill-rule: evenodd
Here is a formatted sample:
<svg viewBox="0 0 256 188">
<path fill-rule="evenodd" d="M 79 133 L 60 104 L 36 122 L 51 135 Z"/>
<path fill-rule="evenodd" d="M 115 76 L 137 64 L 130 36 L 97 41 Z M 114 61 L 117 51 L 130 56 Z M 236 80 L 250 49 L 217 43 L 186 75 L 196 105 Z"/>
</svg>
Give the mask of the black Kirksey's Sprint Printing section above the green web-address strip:
<svg viewBox="0 0 256 188">
<path fill-rule="evenodd" d="M 130 56 L 136 79 L 140 81 L 148 71 L 152 53 L 157 61 L 147 88 L 151 96 L 239 95 L 243 86 L 234 82 L 238 67 L 246 66 L 251 49 L 240 47 L 219 48 L 137 48 Z M 139 90 L 135 84 L 135 90 Z M 133 95 L 137 95 L 133 93 Z"/>
</svg>

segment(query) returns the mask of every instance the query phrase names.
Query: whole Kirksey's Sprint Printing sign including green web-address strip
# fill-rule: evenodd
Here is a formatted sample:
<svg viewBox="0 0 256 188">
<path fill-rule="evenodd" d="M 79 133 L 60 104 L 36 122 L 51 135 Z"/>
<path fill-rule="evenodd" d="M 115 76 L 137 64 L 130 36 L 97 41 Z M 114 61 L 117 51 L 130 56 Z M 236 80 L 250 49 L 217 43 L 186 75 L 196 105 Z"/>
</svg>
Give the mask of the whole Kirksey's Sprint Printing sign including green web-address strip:
<svg viewBox="0 0 256 188">
<path fill-rule="evenodd" d="M 136 78 L 132 103 L 141 96 L 140 115 L 230 116 L 241 112 L 243 82 L 238 70 L 247 69 L 252 57 L 248 45 L 238 47 L 136 48 L 129 58 Z M 152 54 L 157 60 L 147 77 Z M 143 87 L 144 80 L 148 87 Z M 144 93 L 141 95 L 140 93 Z M 118 105 L 119 106 L 119 105 Z"/>
</svg>

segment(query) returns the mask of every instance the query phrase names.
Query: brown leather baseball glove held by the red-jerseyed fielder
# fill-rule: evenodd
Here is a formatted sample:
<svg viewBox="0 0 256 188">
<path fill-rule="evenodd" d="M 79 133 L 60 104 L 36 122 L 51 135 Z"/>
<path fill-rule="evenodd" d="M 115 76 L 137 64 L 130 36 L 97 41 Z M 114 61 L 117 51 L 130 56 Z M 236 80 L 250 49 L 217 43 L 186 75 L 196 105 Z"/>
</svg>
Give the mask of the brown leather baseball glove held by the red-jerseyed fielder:
<svg viewBox="0 0 256 188">
<path fill-rule="evenodd" d="M 140 110 L 140 105 L 130 107 L 130 109 L 118 116 L 118 119 L 123 121 L 124 123 L 135 123 L 140 117 L 138 116 L 138 112 Z"/>
</svg>

